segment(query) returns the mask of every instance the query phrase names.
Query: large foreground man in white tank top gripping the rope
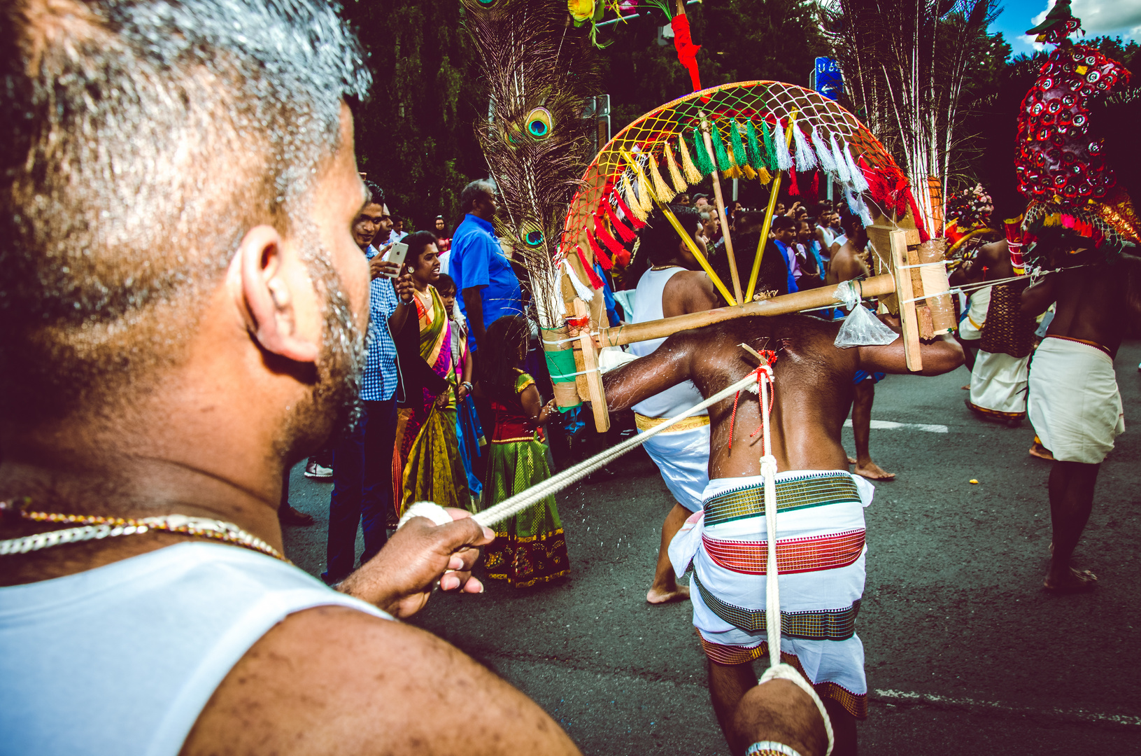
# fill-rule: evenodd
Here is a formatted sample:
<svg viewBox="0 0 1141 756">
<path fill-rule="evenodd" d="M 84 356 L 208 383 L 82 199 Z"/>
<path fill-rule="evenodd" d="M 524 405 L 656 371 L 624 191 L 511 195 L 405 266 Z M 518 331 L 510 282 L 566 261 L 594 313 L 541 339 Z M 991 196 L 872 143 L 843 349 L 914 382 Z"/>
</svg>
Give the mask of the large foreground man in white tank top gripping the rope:
<svg viewBox="0 0 1141 756">
<path fill-rule="evenodd" d="M 0 541 L 90 525 L 0 548 L 0 754 L 577 753 L 393 621 L 482 592 L 462 513 L 340 593 L 273 558 L 369 312 L 333 10 L 23 0 L 0 65 Z"/>
</svg>

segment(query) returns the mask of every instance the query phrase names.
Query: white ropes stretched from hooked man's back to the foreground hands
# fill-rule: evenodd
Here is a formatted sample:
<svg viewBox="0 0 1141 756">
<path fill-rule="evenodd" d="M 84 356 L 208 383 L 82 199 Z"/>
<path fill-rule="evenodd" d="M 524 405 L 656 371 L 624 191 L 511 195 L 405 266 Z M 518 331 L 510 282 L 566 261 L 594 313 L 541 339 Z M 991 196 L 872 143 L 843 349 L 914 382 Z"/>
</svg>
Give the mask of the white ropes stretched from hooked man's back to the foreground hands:
<svg viewBox="0 0 1141 756">
<path fill-rule="evenodd" d="M 750 352 L 752 352 L 752 349 L 750 349 Z M 755 352 L 753 352 L 753 354 L 761 356 Z M 750 372 L 737 383 L 722 388 L 705 401 L 695 404 L 685 412 L 670 418 L 662 425 L 655 426 L 645 433 L 639 433 L 638 435 L 628 439 L 610 449 L 601 451 L 590 459 L 585 459 L 573 467 L 568 467 L 561 473 L 552 475 L 537 485 L 533 485 L 526 491 L 520 491 L 511 498 L 504 499 L 494 507 L 489 507 L 483 512 L 474 514 L 471 518 L 484 526 L 491 526 L 497 522 L 502 522 L 508 517 L 523 512 L 527 507 L 537 504 L 547 497 L 558 493 L 563 489 L 576 483 L 593 473 L 596 469 L 609 464 L 628 451 L 640 447 L 653 436 L 672 427 L 681 420 L 685 420 L 687 417 L 696 415 L 697 412 L 712 407 L 722 400 L 729 399 L 743 388 L 753 389 L 754 386 L 759 384 L 759 397 L 761 400 L 761 431 L 763 434 L 764 450 L 764 456 L 761 457 L 761 475 L 764 477 L 764 522 L 768 525 L 769 548 L 768 566 L 766 568 L 767 597 L 764 612 L 766 632 L 769 641 L 769 668 L 758 682 L 759 684 L 764 684 L 770 679 L 787 679 L 811 697 L 812 702 L 816 703 L 816 708 L 820 711 L 820 716 L 824 718 L 824 729 L 828 733 L 828 750 L 825 753 L 825 756 L 830 756 L 832 754 L 833 746 L 832 722 L 828 719 L 828 713 L 824 708 L 824 702 L 820 701 L 820 697 L 816 694 L 812 686 L 803 678 L 803 676 L 801 676 L 799 671 L 796 671 L 794 667 L 782 663 L 780 661 L 780 587 L 777 584 L 777 460 L 772 456 L 772 442 L 769 437 L 769 392 L 772 388 L 772 365 L 763 356 L 761 359 L 762 364 L 759 369 Z M 452 516 L 447 514 L 443 507 L 432 501 L 414 502 L 404 513 L 404 516 L 400 517 L 399 524 L 404 525 L 404 523 L 413 517 L 427 517 L 437 525 L 445 525 L 452 522 Z"/>
</svg>

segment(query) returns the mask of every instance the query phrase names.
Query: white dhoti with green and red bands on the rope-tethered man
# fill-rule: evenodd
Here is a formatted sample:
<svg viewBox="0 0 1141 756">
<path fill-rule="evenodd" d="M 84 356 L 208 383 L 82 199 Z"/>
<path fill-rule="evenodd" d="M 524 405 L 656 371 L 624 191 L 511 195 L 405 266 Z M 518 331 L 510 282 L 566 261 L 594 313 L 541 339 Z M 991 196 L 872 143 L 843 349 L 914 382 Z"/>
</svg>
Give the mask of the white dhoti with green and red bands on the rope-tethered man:
<svg viewBox="0 0 1141 756">
<path fill-rule="evenodd" d="M 777 474 L 780 652 L 822 698 L 867 716 L 864 644 L 856 614 L 864 594 L 864 507 L 874 489 L 847 471 Z M 763 478 L 717 478 L 670 544 L 705 654 L 725 665 L 768 654 L 764 633 L 768 561 Z"/>
</svg>

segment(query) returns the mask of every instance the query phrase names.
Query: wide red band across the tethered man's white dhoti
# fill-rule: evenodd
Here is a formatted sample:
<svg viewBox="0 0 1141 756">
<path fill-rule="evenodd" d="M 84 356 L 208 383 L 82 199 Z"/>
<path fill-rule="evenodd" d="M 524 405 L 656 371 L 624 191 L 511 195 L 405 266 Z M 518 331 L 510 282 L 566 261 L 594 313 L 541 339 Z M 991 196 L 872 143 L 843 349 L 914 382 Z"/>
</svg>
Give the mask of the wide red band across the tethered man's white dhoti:
<svg viewBox="0 0 1141 756">
<path fill-rule="evenodd" d="M 766 574 L 768 541 L 727 541 L 702 536 L 705 553 L 720 566 L 742 574 Z M 777 541 L 780 574 L 848 566 L 864 552 L 864 530 Z"/>
</svg>

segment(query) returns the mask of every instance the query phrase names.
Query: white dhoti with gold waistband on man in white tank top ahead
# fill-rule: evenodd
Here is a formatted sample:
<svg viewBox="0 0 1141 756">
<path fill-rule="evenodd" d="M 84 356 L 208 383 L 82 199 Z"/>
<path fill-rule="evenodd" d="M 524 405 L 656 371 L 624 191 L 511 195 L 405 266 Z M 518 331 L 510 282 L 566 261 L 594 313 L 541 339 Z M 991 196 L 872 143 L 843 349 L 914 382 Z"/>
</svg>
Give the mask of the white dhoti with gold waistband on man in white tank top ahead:
<svg viewBox="0 0 1141 756">
<path fill-rule="evenodd" d="M 638 432 L 644 433 L 667 418 L 636 415 Z M 657 434 L 642 448 L 662 473 L 673 498 L 690 512 L 702 508 L 705 486 L 710 482 L 710 419 L 707 415 L 686 418 Z"/>
</svg>

